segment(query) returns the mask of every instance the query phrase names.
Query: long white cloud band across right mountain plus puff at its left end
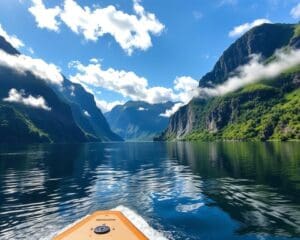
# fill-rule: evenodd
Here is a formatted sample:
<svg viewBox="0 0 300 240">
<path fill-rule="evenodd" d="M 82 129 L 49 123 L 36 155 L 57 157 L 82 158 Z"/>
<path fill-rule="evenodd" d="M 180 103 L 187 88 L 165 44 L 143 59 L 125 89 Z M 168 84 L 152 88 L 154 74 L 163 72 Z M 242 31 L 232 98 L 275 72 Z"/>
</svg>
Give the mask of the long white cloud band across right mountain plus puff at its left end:
<svg viewBox="0 0 300 240">
<path fill-rule="evenodd" d="M 252 59 L 248 64 L 238 67 L 233 77 L 228 78 L 223 84 L 216 85 L 214 88 L 198 88 L 196 83 L 188 77 L 181 78 L 180 81 L 175 80 L 175 89 L 186 88 L 181 93 L 185 94 L 185 96 L 181 96 L 180 99 L 182 101 L 176 103 L 172 109 L 168 109 L 161 116 L 172 116 L 180 107 L 186 105 L 194 97 L 222 96 L 248 84 L 259 82 L 263 79 L 274 78 L 282 72 L 300 64 L 300 50 L 291 50 L 289 52 L 278 50 L 275 56 L 275 61 L 265 65 L 260 55 L 252 55 Z"/>
</svg>

